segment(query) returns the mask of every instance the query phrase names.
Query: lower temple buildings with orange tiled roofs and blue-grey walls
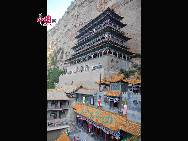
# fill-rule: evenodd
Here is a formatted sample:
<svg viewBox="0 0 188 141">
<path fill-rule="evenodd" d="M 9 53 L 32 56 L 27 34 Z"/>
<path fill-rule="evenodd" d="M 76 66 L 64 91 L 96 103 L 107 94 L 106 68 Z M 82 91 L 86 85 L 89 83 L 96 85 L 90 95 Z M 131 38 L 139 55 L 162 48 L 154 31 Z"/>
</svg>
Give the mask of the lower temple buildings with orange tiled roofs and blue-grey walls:
<svg viewBox="0 0 188 141">
<path fill-rule="evenodd" d="M 141 81 L 115 74 L 97 83 L 97 93 L 74 92 L 77 126 L 100 141 L 140 140 Z"/>
</svg>

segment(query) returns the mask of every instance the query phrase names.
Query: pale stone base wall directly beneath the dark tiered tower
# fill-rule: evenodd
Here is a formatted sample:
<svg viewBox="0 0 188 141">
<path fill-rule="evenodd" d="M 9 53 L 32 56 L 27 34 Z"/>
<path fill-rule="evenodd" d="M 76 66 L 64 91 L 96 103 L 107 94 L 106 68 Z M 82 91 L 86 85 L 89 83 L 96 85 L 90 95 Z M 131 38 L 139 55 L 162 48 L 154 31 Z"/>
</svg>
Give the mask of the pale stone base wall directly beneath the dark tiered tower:
<svg viewBox="0 0 188 141">
<path fill-rule="evenodd" d="M 93 66 L 99 64 L 102 65 L 102 68 L 92 70 Z M 67 72 L 72 71 L 71 74 L 65 74 L 59 77 L 58 86 L 63 87 L 63 85 L 81 84 L 86 88 L 98 89 L 99 86 L 96 81 L 100 80 L 100 74 L 101 79 L 103 79 L 104 77 L 109 77 L 111 74 L 119 72 L 121 68 L 125 69 L 127 64 L 129 63 L 126 63 L 125 60 L 118 59 L 112 55 L 103 56 L 100 58 L 95 58 L 86 62 L 75 64 L 67 67 Z M 87 71 L 85 70 L 86 65 L 89 66 L 89 70 Z M 81 66 L 84 68 L 84 71 L 74 73 L 76 71 L 76 68 L 78 67 L 80 69 Z"/>
</svg>

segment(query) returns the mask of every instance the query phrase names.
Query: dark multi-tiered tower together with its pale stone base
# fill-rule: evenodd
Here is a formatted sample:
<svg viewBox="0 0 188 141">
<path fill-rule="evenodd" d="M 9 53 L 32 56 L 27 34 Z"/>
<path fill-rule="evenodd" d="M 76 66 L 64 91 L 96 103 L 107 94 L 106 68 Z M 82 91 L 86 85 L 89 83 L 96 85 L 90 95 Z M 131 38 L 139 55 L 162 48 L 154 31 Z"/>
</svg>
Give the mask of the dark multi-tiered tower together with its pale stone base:
<svg viewBox="0 0 188 141">
<path fill-rule="evenodd" d="M 79 30 L 78 42 L 72 48 L 72 56 L 65 60 L 66 75 L 60 77 L 59 86 L 63 83 L 82 84 L 86 87 L 98 87 L 94 82 L 129 69 L 131 56 L 126 42 L 130 39 L 121 28 L 123 17 L 107 8 L 98 17 Z"/>
</svg>

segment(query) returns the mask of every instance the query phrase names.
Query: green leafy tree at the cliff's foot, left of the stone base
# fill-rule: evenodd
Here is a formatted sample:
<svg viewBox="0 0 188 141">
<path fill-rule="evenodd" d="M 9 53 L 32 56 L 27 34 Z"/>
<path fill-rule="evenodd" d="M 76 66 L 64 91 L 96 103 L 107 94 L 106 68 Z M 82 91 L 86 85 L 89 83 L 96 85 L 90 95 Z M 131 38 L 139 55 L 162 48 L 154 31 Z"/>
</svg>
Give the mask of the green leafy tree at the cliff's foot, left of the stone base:
<svg viewBox="0 0 188 141">
<path fill-rule="evenodd" d="M 54 89 L 55 83 L 59 82 L 59 76 L 64 74 L 63 70 L 60 70 L 58 67 L 53 67 L 48 70 L 47 75 L 47 88 Z"/>
</svg>

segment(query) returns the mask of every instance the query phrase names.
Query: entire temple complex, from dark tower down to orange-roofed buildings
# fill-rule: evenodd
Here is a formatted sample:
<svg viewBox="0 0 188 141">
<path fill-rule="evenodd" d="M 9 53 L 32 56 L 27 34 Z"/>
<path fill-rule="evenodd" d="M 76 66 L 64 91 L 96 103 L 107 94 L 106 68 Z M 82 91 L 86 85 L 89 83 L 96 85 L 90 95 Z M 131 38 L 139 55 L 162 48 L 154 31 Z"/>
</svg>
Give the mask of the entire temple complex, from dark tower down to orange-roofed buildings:
<svg viewBox="0 0 188 141">
<path fill-rule="evenodd" d="M 69 115 L 71 140 L 81 139 L 84 133 L 88 141 L 141 140 L 141 79 L 120 74 L 121 69 L 132 68 L 135 55 L 127 47 L 130 38 L 121 31 L 126 26 L 122 19 L 107 8 L 82 27 L 56 92 L 48 93 L 47 116 L 54 120 Z"/>
</svg>

